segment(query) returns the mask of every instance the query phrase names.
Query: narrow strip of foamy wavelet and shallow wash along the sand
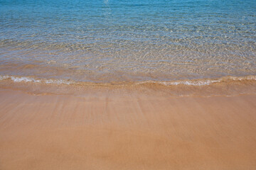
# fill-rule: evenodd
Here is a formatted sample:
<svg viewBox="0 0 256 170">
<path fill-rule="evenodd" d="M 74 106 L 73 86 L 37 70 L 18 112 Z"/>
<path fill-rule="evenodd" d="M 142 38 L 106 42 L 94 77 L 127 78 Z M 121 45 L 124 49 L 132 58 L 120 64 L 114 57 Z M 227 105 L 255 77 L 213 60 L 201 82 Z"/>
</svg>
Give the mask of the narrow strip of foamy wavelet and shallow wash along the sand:
<svg viewBox="0 0 256 170">
<path fill-rule="evenodd" d="M 120 81 L 85 82 L 66 79 L 39 79 L 36 77 L 18 77 L 0 75 L 0 89 L 25 91 L 34 95 L 72 95 L 87 94 L 159 94 L 168 96 L 240 96 L 256 94 L 256 76 L 220 77 L 216 79 L 181 79 L 173 81 Z M 144 93 L 141 93 L 141 92 Z"/>
</svg>

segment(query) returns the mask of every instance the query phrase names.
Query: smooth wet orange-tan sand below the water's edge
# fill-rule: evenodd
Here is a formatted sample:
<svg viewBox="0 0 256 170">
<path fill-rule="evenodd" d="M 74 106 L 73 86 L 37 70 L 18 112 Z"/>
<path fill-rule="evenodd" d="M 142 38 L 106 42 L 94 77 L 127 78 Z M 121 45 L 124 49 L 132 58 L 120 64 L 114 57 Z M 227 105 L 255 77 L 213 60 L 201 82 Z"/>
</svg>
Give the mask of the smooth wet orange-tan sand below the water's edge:
<svg viewBox="0 0 256 170">
<path fill-rule="evenodd" d="M 0 169 L 255 169 L 256 95 L 0 90 Z"/>
</svg>

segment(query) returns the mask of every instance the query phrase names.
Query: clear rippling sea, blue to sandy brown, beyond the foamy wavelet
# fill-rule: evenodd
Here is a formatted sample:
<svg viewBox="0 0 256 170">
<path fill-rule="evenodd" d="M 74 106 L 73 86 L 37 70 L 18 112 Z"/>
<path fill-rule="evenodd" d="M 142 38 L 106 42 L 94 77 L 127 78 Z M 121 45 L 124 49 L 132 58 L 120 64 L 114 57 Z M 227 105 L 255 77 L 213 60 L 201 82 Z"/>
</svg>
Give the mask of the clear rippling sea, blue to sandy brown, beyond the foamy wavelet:
<svg viewBox="0 0 256 170">
<path fill-rule="evenodd" d="M 256 1 L 0 0 L 0 75 L 92 82 L 256 75 Z"/>
</svg>

